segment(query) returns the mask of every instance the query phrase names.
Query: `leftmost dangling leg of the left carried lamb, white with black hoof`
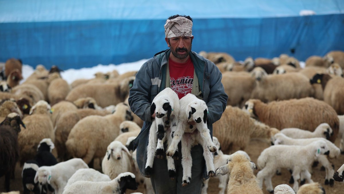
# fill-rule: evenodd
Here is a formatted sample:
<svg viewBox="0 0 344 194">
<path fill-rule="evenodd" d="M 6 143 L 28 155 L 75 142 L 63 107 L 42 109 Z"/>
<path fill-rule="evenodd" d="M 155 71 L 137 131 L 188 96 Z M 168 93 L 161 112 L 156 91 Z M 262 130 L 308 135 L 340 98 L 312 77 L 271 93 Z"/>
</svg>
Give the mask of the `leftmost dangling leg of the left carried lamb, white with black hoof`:
<svg viewBox="0 0 344 194">
<path fill-rule="evenodd" d="M 155 157 L 155 148 L 157 147 L 157 135 L 156 135 L 155 122 L 153 121 L 151 128 L 149 129 L 148 135 L 148 146 L 147 146 L 147 161 L 146 167 L 144 168 L 144 177 L 150 178 L 150 175 L 153 171 L 153 162 Z"/>
</svg>

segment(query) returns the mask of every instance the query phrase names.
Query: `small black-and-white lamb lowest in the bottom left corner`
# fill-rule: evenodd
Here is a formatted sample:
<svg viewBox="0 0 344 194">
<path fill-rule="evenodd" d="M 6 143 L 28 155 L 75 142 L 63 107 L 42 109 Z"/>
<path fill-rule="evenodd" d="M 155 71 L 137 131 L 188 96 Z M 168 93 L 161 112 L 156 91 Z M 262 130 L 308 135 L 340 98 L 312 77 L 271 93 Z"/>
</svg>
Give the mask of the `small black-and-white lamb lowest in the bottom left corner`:
<svg viewBox="0 0 344 194">
<path fill-rule="evenodd" d="M 38 168 L 38 163 L 35 160 L 28 160 L 24 163 L 22 170 L 24 194 L 30 194 L 30 191 L 32 191 L 34 194 L 41 193 L 41 186 L 37 183 L 34 183 L 34 178 Z"/>
</svg>

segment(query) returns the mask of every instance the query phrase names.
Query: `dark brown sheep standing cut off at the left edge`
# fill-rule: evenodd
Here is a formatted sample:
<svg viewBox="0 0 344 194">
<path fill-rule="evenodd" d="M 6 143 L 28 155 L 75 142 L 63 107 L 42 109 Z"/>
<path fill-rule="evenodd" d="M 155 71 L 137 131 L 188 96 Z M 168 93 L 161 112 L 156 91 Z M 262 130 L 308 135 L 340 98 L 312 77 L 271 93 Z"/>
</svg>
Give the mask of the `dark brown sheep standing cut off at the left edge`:
<svg viewBox="0 0 344 194">
<path fill-rule="evenodd" d="M 18 133 L 25 128 L 17 113 L 10 113 L 0 124 L 0 177 L 5 175 L 5 188 L 10 191 L 10 176 L 14 174 L 19 159 Z"/>
</svg>

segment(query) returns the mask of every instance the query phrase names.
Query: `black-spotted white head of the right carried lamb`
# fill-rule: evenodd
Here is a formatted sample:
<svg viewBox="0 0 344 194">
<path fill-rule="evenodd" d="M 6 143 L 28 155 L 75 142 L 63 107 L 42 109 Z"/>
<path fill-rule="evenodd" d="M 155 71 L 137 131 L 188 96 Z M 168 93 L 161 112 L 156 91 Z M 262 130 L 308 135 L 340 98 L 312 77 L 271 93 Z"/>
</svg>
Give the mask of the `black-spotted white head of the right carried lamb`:
<svg viewBox="0 0 344 194">
<path fill-rule="evenodd" d="M 189 115 L 187 119 L 189 121 L 195 121 L 197 123 L 207 122 L 208 107 L 203 100 L 195 98 L 186 107 L 186 115 Z"/>
</svg>

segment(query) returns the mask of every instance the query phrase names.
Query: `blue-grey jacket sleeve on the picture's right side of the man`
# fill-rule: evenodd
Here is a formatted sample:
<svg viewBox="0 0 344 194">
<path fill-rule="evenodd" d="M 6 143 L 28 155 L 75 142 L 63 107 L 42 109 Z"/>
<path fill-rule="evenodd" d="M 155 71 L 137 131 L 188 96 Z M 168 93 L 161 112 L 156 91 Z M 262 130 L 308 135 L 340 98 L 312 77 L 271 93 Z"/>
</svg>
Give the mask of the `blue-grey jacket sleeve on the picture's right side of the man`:
<svg viewBox="0 0 344 194">
<path fill-rule="evenodd" d="M 213 124 L 215 121 L 221 118 L 222 113 L 226 109 L 228 96 L 225 93 L 221 79 L 222 74 L 220 70 L 213 64 L 213 70 L 211 72 L 210 80 L 210 92 L 208 96 L 208 122 Z"/>
</svg>

